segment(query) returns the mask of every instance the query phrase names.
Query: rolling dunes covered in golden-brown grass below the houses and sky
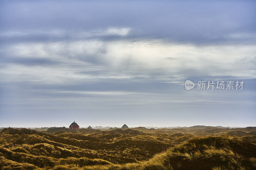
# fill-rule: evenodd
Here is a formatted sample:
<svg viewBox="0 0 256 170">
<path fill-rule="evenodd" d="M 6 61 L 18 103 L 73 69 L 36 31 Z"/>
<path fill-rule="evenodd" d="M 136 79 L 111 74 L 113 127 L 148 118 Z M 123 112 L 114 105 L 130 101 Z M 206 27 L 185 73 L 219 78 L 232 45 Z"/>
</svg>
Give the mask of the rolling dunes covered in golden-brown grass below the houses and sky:
<svg viewBox="0 0 256 170">
<path fill-rule="evenodd" d="M 0 132 L 0 169 L 256 169 L 255 127 Z M 198 135 L 199 134 L 199 135 Z"/>
</svg>

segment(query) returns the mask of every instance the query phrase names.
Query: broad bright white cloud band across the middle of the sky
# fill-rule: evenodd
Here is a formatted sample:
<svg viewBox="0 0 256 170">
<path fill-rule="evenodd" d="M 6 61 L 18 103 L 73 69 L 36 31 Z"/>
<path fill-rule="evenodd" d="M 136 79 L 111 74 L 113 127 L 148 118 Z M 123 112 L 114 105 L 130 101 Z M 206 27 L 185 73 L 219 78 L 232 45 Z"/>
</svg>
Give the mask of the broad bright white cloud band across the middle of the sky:
<svg viewBox="0 0 256 170">
<path fill-rule="evenodd" d="M 5 63 L 0 71 L 3 81 L 38 83 L 109 78 L 181 82 L 193 75 L 255 78 L 255 49 L 255 45 L 193 46 L 158 41 L 21 43 L 5 46 L 0 52 Z M 166 60 L 168 55 L 172 59 Z M 179 76 L 169 76 L 175 74 Z"/>
</svg>

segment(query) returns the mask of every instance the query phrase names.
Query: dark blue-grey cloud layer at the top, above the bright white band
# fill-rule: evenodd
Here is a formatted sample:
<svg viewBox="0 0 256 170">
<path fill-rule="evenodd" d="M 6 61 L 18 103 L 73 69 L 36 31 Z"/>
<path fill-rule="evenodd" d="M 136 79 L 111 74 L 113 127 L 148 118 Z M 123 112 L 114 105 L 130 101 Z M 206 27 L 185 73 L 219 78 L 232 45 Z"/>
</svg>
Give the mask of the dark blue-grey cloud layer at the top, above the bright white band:
<svg viewBox="0 0 256 170">
<path fill-rule="evenodd" d="M 84 39 L 255 44 L 255 7 L 254 1 L 4 1 L 0 36 L 2 44 Z"/>
</svg>

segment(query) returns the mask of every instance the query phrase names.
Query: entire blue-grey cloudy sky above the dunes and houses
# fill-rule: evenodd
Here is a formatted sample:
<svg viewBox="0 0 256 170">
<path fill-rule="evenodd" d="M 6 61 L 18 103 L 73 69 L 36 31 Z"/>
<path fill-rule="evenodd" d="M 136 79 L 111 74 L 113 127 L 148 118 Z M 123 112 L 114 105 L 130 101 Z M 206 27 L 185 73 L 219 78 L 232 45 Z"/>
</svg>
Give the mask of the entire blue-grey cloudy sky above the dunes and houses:
<svg viewBox="0 0 256 170">
<path fill-rule="evenodd" d="M 256 126 L 256 1 L 0 1 L 0 127 Z M 244 81 L 186 90 L 185 81 Z"/>
</svg>

